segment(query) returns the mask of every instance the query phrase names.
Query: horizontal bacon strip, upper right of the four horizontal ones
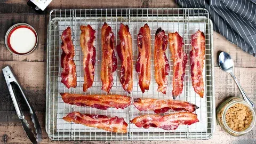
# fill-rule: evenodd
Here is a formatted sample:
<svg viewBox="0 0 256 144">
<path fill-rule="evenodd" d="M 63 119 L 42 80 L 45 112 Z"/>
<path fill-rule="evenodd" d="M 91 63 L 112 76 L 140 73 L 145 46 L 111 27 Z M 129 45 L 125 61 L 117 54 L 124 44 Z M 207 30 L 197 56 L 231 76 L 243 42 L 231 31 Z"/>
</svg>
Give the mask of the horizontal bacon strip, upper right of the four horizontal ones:
<svg viewBox="0 0 256 144">
<path fill-rule="evenodd" d="M 157 100 L 157 99 L 135 99 L 133 105 L 140 111 L 154 110 L 156 114 L 165 113 L 169 109 L 172 110 L 185 110 L 190 113 L 194 112 L 197 107 L 196 105 L 179 100 Z"/>
</svg>

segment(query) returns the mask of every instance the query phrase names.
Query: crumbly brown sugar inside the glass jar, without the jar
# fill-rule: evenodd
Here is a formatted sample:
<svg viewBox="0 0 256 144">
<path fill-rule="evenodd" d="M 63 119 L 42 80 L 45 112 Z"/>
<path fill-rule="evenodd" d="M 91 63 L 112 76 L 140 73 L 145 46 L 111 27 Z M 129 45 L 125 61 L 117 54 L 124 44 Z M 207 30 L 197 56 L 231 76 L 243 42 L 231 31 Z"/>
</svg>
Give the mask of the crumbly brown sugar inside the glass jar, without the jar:
<svg viewBox="0 0 256 144">
<path fill-rule="evenodd" d="M 236 103 L 226 112 L 226 123 L 234 131 L 244 131 L 252 122 L 251 110 L 242 103 Z"/>
</svg>

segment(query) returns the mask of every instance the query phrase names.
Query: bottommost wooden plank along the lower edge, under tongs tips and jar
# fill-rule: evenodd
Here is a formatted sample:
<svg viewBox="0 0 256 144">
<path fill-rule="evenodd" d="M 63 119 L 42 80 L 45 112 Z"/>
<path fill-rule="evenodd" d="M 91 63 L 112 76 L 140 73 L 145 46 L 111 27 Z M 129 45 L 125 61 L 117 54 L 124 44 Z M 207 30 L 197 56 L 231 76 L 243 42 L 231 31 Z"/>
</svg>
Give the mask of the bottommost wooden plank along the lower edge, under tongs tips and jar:
<svg viewBox="0 0 256 144">
<path fill-rule="evenodd" d="M 45 113 L 44 112 L 36 112 L 39 123 L 42 126 L 42 143 L 74 143 L 74 141 L 51 141 L 47 137 L 47 133 L 45 131 Z M 15 122 L 1 122 L 0 121 L 0 142 L 6 143 L 29 143 L 29 139 L 27 138 L 26 133 L 22 129 L 22 126 L 19 122 L 18 116 L 15 111 L 0 111 L 0 115 L 9 115 L 9 117 L 17 117 L 17 121 Z M 26 115 L 26 117 L 29 117 Z M 225 139 L 224 139 L 225 138 Z M 210 140 L 187 140 L 187 141 L 76 141 L 76 143 L 190 143 L 190 144 L 198 144 L 198 143 L 255 143 L 256 142 L 256 129 L 250 131 L 249 133 L 243 135 L 242 137 L 231 137 L 228 133 L 226 133 L 219 125 L 216 126 L 215 133 Z"/>
</svg>

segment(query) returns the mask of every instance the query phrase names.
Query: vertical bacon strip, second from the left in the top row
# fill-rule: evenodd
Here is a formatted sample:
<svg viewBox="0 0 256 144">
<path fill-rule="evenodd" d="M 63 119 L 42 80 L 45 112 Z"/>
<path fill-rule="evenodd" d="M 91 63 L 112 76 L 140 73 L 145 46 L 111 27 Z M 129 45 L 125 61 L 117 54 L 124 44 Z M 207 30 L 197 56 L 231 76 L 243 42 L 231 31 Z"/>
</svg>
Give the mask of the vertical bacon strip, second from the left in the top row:
<svg viewBox="0 0 256 144">
<path fill-rule="evenodd" d="M 96 50 L 93 46 L 93 41 L 95 41 L 96 31 L 92 29 L 90 25 L 80 27 L 82 33 L 80 36 L 80 45 L 82 47 L 82 52 L 84 55 L 83 67 L 84 67 L 84 85 L 83 91 L 87 91 L 89 87 L 92 86 L 94 80 L 94 66 Z"/>
</svg>

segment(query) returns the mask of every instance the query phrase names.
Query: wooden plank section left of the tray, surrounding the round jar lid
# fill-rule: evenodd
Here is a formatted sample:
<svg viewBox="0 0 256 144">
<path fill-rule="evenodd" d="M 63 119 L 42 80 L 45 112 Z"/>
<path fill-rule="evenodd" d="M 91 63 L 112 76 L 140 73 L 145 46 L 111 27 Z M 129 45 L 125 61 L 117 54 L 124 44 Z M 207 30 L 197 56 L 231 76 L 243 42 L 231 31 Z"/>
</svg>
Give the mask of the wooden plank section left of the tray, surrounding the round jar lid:
<svg viewBox="0 0 256 144">
<path fill-rule="evenodd" d="M 1 4 L 0 4 L 1 5 Z M 1 14 L 0 25 L 0 60 L 8 61 L 46 61 L 46 29 L 45 15 L 38 14 Z M 28 55 L 14 55 L 7 50 L 4 42 L 6 31 L 16 23 L 28 23 L 35 28 L 38 34 L 38 46 Z"/>
</svg>

